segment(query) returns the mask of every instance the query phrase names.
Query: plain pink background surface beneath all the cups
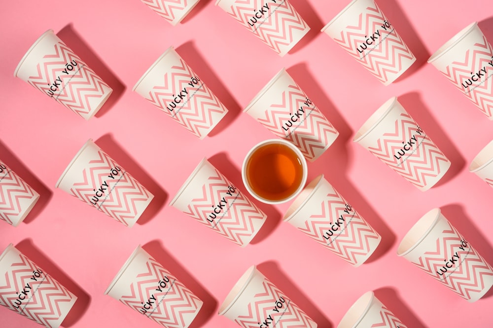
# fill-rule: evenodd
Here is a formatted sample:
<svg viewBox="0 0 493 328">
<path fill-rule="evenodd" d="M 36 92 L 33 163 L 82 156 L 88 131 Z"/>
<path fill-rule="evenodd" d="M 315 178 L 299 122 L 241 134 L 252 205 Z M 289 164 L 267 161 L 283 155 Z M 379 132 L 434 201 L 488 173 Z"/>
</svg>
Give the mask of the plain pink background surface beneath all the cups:
<svg viewBox="0 0 493 328">
<path fill-rule="evenodd" d="M 281 58 L 213 0 L 201 0 L 176 27 L 139 0 L 3 1 L 0 157 L 41 198 L 20 226 L 0 222 L 0 249 L 13 243 L 79 297 L 66 327 L 159 327 L 103 294 L 139 244 L 205 302 L 206 310 L 193 327 L 238 327 L 216 313 L 252 264 L 320 328 L 336 327 L 369 290 L 410 328 L 492 325 L 492 292 L 468 303 L 396 255 L 409 228 L 440 207 L 493 263 L 493 190 L 467 169 L 493 139 L 493 122 L 426 64 L 436 49 L 473 21 L 480 22 L 492 42 L 491 2 L 379 0 L 418 58 L 409 73 L 387 87 L 319 32 L 349 0 L 290 2 L 312 31 Z M 13 77 L 24 53 L 47 29 L 114 89 L 90 121 Z M 131 91 L 170 45 L 230 111 L 205 140 Z M 242 109 L 282 67 L 340 132 L 335 144 L 308 164 L 308 181 L 323 173 L 383 236 L 377 254 L 361 267 L 353 268 L 282 222 L 289 204 L 257 202 L 267 222 L 244 249 L 168 206 L 203 157 L 246 190 L 240 175 L 246 152 L 274 136 Z M 352 142 L 367 117 L 392 96 L 398 96 L 452 161 L 443 182 L 424 193 Z M 89 138 L 160 200 L 133 228 L 54 188 Z M 3 307 L 0 317 L 1 327 L 39 327 Z"/>
</svg>

